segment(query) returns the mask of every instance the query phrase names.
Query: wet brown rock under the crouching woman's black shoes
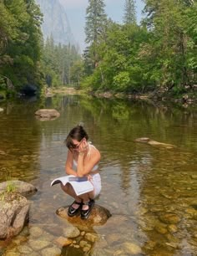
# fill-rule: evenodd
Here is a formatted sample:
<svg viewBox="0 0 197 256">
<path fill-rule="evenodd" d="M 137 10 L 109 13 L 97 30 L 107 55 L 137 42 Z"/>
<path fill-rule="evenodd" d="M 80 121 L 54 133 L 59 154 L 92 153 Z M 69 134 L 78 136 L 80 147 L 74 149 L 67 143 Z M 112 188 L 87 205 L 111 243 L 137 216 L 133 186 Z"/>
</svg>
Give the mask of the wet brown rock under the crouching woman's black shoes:
<svg viewBox="0 0 197 256">
<path fill-rule="evenodd" d="M 108 209 L 95 204 L 93 206 L 92 212 L 88 219 L 81 219 L 80 216 L 68 217 L 68 207 L 61 207 L 57 210 L 58 216 L 65 218 L 68 222 L 73 223 L 75 226 L 80 227 L 82 230 L 88 230 L 93 226 L 101 226 L 107 222 L 108 218 L 111 216 Z"/>
</svg>

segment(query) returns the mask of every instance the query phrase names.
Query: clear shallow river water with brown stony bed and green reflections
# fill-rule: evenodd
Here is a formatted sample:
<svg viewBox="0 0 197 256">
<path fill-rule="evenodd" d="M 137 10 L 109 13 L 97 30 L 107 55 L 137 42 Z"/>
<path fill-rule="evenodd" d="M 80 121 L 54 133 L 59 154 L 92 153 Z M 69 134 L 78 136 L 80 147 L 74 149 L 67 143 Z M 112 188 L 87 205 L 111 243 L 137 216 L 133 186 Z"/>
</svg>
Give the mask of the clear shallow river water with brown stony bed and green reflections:
<svg viewBox="0 0 197 256">
<path fill-rule="evenodd" d="M 197 255 L 196 109 L 79 95 L 0 107 L 0 182 L 19 179 L 38 188 L 29 198 L 28 225 L 0 242 L 0 255 Z M 34 113 L 41 108 L 60 117 L 40 121 Z M 96 239 L 80 230 L 61 248 L 55 241 L 65 237 L 68 223 L 56 210 L 73 200 L 50 182 L 64 175 L 63 140 L 81 122 L 102 155 L 96 203 L 112 217 L 93 228 Z M 173 147 L 135 142 L 140 137 Z"/>
</svg>

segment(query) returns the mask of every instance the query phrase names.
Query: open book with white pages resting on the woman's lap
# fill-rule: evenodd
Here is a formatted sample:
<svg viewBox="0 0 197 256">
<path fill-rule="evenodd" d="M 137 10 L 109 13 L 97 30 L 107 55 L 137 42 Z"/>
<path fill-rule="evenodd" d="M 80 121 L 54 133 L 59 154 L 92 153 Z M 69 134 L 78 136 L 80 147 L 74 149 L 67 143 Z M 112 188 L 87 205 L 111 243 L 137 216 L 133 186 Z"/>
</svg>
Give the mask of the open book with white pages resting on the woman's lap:
<svg viewBox="0 0 197 256">
<path fill-rule="evenodd" d="M 51 182 L 51 186 L 58 183 L 63 183 L 63 186 L 67 183 L 71 184 L 77 196 L 93 191 L 93 184 L 88 181 L 87 177 L 76 177 L 73 175 L 58 177 Z"/>
</svg>

